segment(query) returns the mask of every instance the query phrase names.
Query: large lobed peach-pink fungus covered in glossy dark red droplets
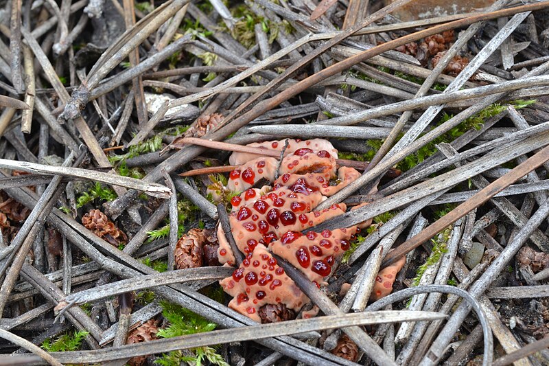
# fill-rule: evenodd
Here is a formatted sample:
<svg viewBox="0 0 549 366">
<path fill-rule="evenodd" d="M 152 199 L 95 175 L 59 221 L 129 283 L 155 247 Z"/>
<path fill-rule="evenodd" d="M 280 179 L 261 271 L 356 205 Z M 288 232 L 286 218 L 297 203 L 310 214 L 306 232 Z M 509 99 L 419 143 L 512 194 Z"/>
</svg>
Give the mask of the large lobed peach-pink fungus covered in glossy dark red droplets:
<svg viewBox="0 0 549 366">
<path fill-rule="evenodd" d="M 277 151 L 282 151 L 284 145 L 285 141 L 250 144 Z M 353 168 L 338 169 L 337 150 L 323 139 L 288 140 L 284 153 L 281 162 L 240 152 L 229 159 L 231 165 L 240 166 L 229 174 L 227 188 L 242 192 L 231 199 L 229 222 L 245 259 L 231 277 L 220 283 L 233 296 L 229 307 L 255 321 L 290 319 L 309 303 L 272 254 L 290 262 L 320 286 L 349 249 L 355 234 L 370 223 L 319 232 L 307 230 L 344 214 L 347 207 L 343 203 L 320 211 L 315 207 L 360 173 Z M 266 179 L 272 187 L 253 188 L 260 179 Z M 220 262 L 234 264 L 235 257 L 220 227 L 218 238 Z"/>
</svg>

